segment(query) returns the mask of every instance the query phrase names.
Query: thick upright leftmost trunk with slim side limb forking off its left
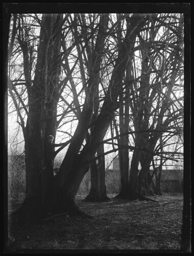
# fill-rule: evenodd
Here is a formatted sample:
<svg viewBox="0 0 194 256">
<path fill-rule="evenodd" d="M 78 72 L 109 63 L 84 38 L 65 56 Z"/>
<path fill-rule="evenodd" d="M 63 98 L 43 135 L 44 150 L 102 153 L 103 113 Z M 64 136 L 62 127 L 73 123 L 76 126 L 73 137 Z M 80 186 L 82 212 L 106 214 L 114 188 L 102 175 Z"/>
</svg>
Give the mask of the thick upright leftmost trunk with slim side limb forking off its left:
<svg viewBox="0 0 194 256">
<path fill-rule="evenodd" d="M 26 199 L 13 216 L 19 225 L 39 222 L 48 215 L 52 200 L 53 159 L 46 153 L 45 140 L 56 135 L 58 79 L 60 68 L 56 59 L 60 53 L 62 15 L 42 16 L 40 43 L 33 85 L 29 67 L 28 44 L 20 41 L 23 52 L 29 110 L 23 128 L 26 155 Z M 58 26 L 57 26 L 58 25 Z M 47 155 L 47 156 L 46 156 Z M 47 159 L 46 159 L 47 158 Z"/>
</svg>

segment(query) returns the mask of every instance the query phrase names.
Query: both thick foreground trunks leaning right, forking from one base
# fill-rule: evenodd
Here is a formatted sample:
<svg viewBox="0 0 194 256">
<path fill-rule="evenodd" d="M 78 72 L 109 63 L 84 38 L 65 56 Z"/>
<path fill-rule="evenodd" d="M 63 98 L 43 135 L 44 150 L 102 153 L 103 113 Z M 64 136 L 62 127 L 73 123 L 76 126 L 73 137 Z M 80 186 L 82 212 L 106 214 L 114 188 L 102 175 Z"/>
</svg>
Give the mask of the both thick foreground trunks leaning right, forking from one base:
<svg viewBox="0 0 194 256">
<path fill-rule="evenodd" d="M 130 18 L 130 27 L 127 29 L 125 39 L 118 52 L 101 112 L 91 131 L 91 139 L 87 139 L 85 146 L 80 152 L 80 148 L 87 134 L 87 127 L 91 124 L 93 98 L 96 93 L 96 88 L 99 86 L 99 70 L 102 55 L 98 53 L 103 52 L 104 41 L 107 35 L 105 30 L 105 27 L 107 29 L 108 25 L 107 18 L 106 15 L 103 15 L 103 22 L 99 26 L 101 28 L 99 30 L 101 35 L 97 37 L 95 45 L 98 49 L 94 49 L 93 76 L 88 82 L 90 90 L 87 99 L 85 100 L 76 132 L 68 147 L 59 173 L 55 178 L 57 201 L 61 205 L 61 208 L 67 210 L 70 214 L 77 213 L 78 209 L 75 207 L 74 199 L 80 183 L 89 169 L 89 163 L 94 158 L 99 145 L 104 139 L 107 129 L 113 119 L 114 111 L 118 108 L 117 98 L 120 93 L 123 93 L 120 81 L 122 81 L 125 74 L 128 53 L 132 52 L 136 34 L 144 23 L 144 20 L 142 20 L 139 15 L 134 15 L 134 17 Z"/>
</svg>

